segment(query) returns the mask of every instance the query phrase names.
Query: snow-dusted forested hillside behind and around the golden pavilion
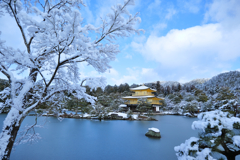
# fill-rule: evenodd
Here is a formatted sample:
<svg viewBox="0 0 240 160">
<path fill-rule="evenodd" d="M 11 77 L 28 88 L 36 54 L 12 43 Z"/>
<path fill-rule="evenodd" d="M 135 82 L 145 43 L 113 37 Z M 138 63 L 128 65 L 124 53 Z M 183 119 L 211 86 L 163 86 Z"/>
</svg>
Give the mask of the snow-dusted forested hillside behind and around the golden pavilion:
<svg viewBox="0 0 240 160">
<path fill-rule="evenodd" d="M 7 85 L 7 81 L 0 80 L 0 90 Z M 87 87 L 87 93 L 97 97 L 95 107 L 97 106 L 98 110 L 117 111 L 118 106 L 124 103 L 122 97 L 132 94 L 129 88 L 140 85 L 142 84 L 125 83 L 119 86 L 107 85 L 104 89 L 99 87 L 95 90 Z M 193 116 L 199 111 L 210 111 L 219 107 L 237 112 L 237 106 L 240 104 L 240 72 L 238 71 L 221 73 L 211 79 L 195 79 L 184 84 L 176 81 L 157 81 L 144 85 L 157 90 L 155 95 L 164 98 L 162 111 L 172 114 Z M 76 99 L 72 95 L 68 97 L 69 99 L 65 99 L 62 103 L 63 108 L 96 112 L 95 107 L 84 99 Z M 52 104 L 40 107 L 46 109 L 49 105 Z"/>
</svg>

